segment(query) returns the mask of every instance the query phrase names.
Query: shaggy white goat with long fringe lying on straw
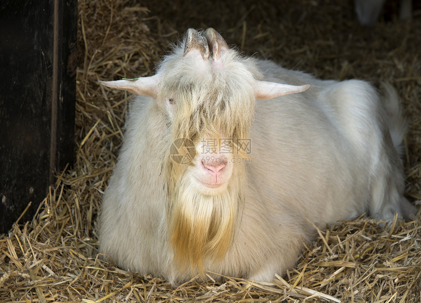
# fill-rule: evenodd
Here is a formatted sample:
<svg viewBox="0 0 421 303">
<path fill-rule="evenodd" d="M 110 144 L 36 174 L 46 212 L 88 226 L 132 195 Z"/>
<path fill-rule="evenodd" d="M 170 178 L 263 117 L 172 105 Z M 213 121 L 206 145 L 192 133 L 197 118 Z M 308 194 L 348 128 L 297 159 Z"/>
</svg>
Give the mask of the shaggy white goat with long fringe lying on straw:
<svg viewBox="0 0 421 303">
<path fill-rule="evenodd" d="M 101 83 L 142 95 L 99 221 L 99 251 L 124 269 L 270 281 L 311 238 L 307 220 L 416 210 L 391 88 L 380 97 L 363 81 L 243 58 L 212 28 L 189 29 L 154 76 Z"/>
</svg>

